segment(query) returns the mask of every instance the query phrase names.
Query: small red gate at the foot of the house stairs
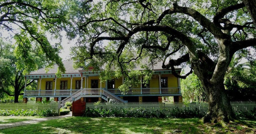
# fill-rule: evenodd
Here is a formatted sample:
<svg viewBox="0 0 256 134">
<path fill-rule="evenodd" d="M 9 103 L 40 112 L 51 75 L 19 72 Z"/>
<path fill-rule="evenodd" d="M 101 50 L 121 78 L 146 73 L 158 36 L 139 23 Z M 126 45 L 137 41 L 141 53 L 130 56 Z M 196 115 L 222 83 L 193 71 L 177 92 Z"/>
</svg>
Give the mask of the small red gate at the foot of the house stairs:
<svg viewBox="0 0 256 134">
<path fill-rule="evenodd" d="M 85 102 L 80 99 L 72 103 L 72 116 L 82 116 L 85 110 Z"/>
</svg>

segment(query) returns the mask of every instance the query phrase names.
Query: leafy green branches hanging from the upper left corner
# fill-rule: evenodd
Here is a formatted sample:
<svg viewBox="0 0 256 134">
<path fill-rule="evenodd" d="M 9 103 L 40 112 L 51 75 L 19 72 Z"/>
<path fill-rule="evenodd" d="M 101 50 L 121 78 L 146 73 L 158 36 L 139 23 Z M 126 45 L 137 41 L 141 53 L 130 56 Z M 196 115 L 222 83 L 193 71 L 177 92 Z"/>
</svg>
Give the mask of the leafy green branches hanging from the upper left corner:
<svg viewBox="0 0 256 134">
<path fill-rule="evenodd" d="M 16 40 L 15 55 L 23 63 L 18 63 L 17 68 L 26 68 L 27 73 L 28 69 L 38 68 L 36 64 L 38 60 L 44 60 L 48 67 L 57 63 L 60 71 L 64 72 L 65 68 L 58 53 L 61 49 L 60 31 L 70 26 L 66 20 L 68 11 L 65 1 L 0 0 L 0 3 L 2 14 L 0 27 Z M 48 37 L 58 43 L 51 44 Z M 38 54 L 44 56 L 35 57 L 33 51 L 38 51 Z"/>
</svg>

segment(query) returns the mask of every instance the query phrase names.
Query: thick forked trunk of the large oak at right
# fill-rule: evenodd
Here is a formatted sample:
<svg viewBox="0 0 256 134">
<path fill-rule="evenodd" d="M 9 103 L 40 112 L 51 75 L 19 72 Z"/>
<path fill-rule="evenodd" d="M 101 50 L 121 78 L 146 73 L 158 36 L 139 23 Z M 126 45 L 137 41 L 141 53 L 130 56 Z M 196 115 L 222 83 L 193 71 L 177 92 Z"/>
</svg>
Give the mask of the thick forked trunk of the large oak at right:
<svg viewBox="0 0 256 134">
<path fill-rule="evenodd" d="M 236 118 L 230 101 L 224 88 L 224 76 L 227 66 L 230 64 L 229 43 L 226 40 L 218 40 L 220 54 L 217 63 L 214 63 L 206 54 L 198 52 L 198 60 L 190 54 L 190 61 L 195 74 L 201 81 L 207 100 L 209 110 L 204 116 L 204 122 L 229 122 Z"/>
</svg>

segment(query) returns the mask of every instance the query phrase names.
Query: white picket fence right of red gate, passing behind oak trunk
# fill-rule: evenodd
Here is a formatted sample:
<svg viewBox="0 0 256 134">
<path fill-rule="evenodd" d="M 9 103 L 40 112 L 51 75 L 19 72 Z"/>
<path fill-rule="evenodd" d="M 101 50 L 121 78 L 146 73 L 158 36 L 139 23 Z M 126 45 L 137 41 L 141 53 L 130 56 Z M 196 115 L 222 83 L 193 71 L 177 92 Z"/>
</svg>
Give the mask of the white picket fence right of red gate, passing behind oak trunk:
<svg viewBox="0 0 256 134">
<path fill-rule="evenodd" d="M 256 111 L 256 102 L 231 102 L 233 111 L 238 113 L 247 113 L 251 114 L 253 111 Z M 160 111 L 164 114 L 170 114 L 170 112 L 175 109 L 198 111 L 200 114 L 205 114 L 208 111 L 208 103 L 158 103 L 158 102 L 128 102 L 128 103 L 119 103 L 119 104 L 109 104 L 109 103 L 86 103 L 86 108 L 141 108 L 150 112 Z"/>
</svg>

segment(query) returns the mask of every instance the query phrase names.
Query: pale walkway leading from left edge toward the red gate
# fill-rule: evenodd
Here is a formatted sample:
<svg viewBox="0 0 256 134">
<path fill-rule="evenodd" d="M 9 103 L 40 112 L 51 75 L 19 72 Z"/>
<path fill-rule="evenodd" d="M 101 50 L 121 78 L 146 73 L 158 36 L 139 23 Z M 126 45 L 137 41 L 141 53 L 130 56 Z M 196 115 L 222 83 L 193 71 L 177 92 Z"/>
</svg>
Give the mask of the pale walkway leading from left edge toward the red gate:
<svg viewBox="0 0 256 134">
<path fill-rule="evenodd" d="M 72 116 L 72 112 L 70 112 L 67 115 L 62 115 L 62 116 L 44 117 L 44 118 L 26 120 L 26 121 L 17 122 L 17 123 L 0 124 L 0 129 L 12 128 L 12 127 L 17 127 L 20 125 L 27 125 L 27 124 L 36 124 L 36 123 L 44 122 L 47 120 L 54 120 L 54 119 L 60 119 L 60 118 L 65 118 L 65 117 L 71 117 L 71 116 Z"/>
</svg>

